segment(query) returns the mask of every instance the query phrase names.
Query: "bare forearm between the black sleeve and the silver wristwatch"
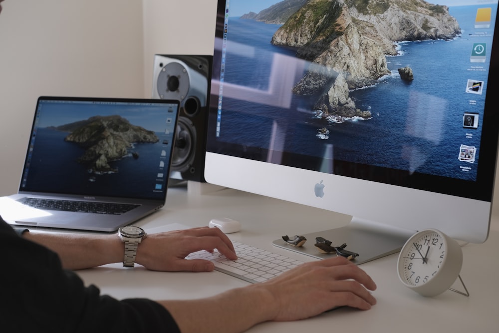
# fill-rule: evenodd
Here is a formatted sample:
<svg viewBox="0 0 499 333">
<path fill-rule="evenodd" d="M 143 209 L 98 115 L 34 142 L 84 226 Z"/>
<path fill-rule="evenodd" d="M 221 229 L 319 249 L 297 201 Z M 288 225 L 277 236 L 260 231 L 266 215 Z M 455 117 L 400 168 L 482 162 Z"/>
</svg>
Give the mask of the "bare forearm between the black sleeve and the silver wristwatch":
<svg viewBox="0 0 499 333">
<path fill-rule="evenodd" d="M 26 232 L 23 237 L 56 252 L 65 269 L 79 270 L 123 261 L 123 243 L 117 235 Z"/>
</svg>

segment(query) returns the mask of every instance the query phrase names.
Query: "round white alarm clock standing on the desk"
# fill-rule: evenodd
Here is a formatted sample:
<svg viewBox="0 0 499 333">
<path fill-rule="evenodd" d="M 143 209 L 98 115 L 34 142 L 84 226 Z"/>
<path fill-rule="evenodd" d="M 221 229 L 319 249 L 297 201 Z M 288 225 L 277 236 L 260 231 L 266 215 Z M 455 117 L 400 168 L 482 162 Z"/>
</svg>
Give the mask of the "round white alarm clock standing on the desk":
<svg viewBox="0 0 499 333">
<path fill-rule="evenodd" d="M 459 243 L 439 230 L 427 229 L 411 236 L 402 247 L 397 272 L 406 287 L 433 297 L 450 289 L 462 265 Z"/>
</svg>

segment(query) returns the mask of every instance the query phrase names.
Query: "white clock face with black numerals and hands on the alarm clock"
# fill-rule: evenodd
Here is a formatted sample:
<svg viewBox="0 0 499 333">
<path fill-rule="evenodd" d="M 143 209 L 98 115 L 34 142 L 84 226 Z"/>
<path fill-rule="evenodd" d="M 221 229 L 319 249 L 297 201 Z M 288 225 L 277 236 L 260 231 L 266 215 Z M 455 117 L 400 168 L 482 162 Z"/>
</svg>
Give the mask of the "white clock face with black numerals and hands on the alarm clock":
<svg viewBox="0 0 499 333">
<path fill-rule="evenodd" d="M 399 256 L 399 277 L 408 286 L 422 286 L 438 275 L 447 260 L 447 242 L 428 230 L 411 238 Z"/>
</svg>

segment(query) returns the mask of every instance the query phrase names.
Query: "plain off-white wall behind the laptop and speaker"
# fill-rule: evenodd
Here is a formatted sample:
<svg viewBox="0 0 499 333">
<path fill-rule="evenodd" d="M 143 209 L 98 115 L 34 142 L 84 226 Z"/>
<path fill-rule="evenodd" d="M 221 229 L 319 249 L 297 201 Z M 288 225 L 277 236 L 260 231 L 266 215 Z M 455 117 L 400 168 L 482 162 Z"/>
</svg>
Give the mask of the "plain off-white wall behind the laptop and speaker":
<svg viewBox="0 0 499 333">
<path fill-rule="evenodd" d="M 154 54 L 213 53 L 216 4 L 216 0 L 3 1 L 0 195 L 17 191 L 38 96 L 150 97 Z M 493 228 L 499 230 L 499 222 Z"/>
</svg>

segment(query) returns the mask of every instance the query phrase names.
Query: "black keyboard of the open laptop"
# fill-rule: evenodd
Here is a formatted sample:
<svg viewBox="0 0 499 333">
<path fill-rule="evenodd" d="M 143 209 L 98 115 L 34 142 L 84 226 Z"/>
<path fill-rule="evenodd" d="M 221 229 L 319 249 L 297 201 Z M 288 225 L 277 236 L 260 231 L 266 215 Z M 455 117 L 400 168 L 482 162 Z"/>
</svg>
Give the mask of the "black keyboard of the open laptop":
<svg viewBox="0 0 499 333">
<path fill-rule="evenodd" d="M 55 200 L 29 197 L 19 199 L 18 201 L 24 205 L 37 209 L 112 215 L 124 214 L 129 210 L 139 206 L 135 204 Z"/>
</svg>

